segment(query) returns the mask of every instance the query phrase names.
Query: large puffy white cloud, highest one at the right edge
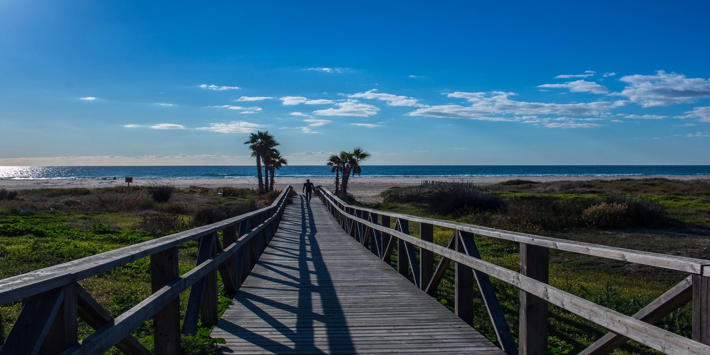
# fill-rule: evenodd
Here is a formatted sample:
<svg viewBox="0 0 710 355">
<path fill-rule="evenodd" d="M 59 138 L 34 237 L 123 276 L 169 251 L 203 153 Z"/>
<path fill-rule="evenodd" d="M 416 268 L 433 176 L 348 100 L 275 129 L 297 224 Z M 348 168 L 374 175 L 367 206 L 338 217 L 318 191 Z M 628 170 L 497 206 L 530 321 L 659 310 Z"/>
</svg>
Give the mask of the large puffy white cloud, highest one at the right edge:
<svg viewBox="0 0 710 355">
<path fill-rule="evenodd" d="M 710 80 L 674 72 L 658 70 L 655 75 L 627 75 L 619 80 L 628 83 L 620 94 L 643 107 L 682 104 L 710 97 Z"/>
</svg>

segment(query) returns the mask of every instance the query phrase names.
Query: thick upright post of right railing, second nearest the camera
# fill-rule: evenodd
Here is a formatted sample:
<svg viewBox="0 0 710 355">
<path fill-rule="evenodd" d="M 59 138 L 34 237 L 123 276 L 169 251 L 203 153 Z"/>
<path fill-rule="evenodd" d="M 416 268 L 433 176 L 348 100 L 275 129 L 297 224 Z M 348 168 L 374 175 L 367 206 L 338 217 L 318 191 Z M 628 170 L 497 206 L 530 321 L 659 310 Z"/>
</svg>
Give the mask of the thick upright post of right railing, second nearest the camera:
<svg viewBox="0 0 710 355">
<path fill-rule="evenodd" d="M 550 282 L 550 251 L 520 243 L 520 273 Z M 547 301 L 520 290 L 520 355 L 547 354 Z"/>
</svg>

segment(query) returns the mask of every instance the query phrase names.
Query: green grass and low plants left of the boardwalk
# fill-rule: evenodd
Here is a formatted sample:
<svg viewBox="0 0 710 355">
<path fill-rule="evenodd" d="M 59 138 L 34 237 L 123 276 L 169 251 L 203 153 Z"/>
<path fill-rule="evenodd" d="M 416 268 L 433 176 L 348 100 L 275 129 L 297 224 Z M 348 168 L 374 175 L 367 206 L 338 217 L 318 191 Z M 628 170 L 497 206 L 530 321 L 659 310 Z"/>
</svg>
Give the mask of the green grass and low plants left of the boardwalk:
<svg viewBox="0 0 710 355">
<path fill-rule="evenodd" d="M 217 211 L 219 215 L 249 212 L 246 209 L 261 208 L 259 206 L 270 204 L 272 199 L 272 196 L 255 195 L 251 190 L 231 193 L 245 197 L 220 197 L 200 189 L 175 190 L 170 202 L 158 203 L 150 197 L 150 191 L 143 188 L 21 191 L 18 197 L 0 201 L 0 278 L 190 229 L 195 216 L 204 210 Z M 155 215 L 163 216 L 168 222 L 182 223 L 166 223 L 163 229 L 155 229 L 146 223 L 146 216 Z M 197 241 L 180 245 L 181 275 L 195 267 L 196 257 Z M 87 278 L 80 281 L 80 285 L 117 317 L 151 295 L 150 258 Z M 218 285 L 221 315 L 231 300 L 222 296 L 221 277 Z M 182 315 L 188 295 L 189 290 L 180 295 Z M 0 344 L 20 311 L 21 301 L 0 306 Z M 131 333 L 148 349 L 153 347 L 152 322 L 148 320 Z M 92 332 L 86 323 L 80 322 L 80 338 Z M 217 340 L 210 338 L 209 332 L 210 329 L 200 329 L 195 336 L 182 337 L 182 354 L 215 354 Z M 112 348 L 107 354 L 121 352 Z"/>
</svg>

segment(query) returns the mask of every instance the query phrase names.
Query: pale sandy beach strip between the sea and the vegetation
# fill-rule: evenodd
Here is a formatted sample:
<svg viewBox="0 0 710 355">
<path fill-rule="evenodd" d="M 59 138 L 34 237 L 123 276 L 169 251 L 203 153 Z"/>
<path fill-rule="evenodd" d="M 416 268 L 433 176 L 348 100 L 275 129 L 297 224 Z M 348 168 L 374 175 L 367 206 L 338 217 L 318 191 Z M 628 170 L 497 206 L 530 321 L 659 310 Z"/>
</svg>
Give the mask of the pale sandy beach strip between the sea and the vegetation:
<svg viewBox="0 0 710 355">
<path fill-rule="evenodd" d="M 596 180 L 596 179 L 643 179 L 643 178 L 669 178 L 677 180 L 694 180 L 705 179 L 701 176 L 537 176 L 537 177 L 520 177 L 524 180 L 548 182 L 548 181 L 563 181 L 563 180 Z M 486 185 L 495 184 L 496 182 L 513 179 L 511 177 L 476 177 L 476 178 L 391 178 L 391 177 L 355 177 L 351 178 L 349 183 L 350 192 L 363 202 L 377 200 L 376 195 L 381 191 L 393 186 L 410 186 L 419 185 L 422 180 L 438 180 L 438 181 L 456 181 L 456 182 L 474 182 L 476 184 Z M 276 178 L 277 188 L 280 189 L 285 185 L 293 185 L 300 192 L 300 186 L 305 182 L 304 178 Z M 324 185 L 330 189 L 334 188 L 334 178 L 312 178 L 311 182 L 315 185 Z M 111 187 L 126 185 L 124 180 L 93 180 L 93 179 L 33 179 L 33 180 L 0 180 L 0 188 L 23 190 L 23 189 L 38 189 L 38 188 L 67 188 L 67 187 Z M 256 178 L 234 178 L 234 179 L 134 179 L 134 186 L 155 186 L 155 185 L 171 185 L 175 187 L 246 187 L 256 189 Z"/>
</svg>

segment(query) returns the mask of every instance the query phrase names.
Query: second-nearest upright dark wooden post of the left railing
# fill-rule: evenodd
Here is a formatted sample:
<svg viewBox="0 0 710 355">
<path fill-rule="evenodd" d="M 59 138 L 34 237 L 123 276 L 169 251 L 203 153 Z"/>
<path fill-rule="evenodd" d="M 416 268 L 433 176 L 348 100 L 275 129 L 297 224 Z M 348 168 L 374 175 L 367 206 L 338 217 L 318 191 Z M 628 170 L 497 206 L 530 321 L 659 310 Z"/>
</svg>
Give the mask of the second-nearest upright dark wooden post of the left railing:
<svg viewBox="0 0 710 355">
<path fill-rule="evenodd" d="M 178 247 L 151 255 L 151 292 L 178 278 Z M 180 354 L 180 297 L 175 297 L 153 316 L 155 355 Z"/>
</svg>

